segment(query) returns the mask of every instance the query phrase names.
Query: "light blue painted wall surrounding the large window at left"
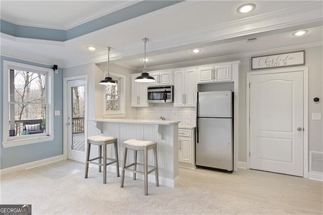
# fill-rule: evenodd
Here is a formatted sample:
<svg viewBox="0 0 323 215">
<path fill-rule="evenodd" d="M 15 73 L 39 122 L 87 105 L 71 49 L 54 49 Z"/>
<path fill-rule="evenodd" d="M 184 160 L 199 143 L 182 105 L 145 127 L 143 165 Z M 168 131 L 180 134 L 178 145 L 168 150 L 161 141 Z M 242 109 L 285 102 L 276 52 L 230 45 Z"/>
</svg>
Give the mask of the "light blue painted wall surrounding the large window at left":
<svg viewBox="0 0 323 215">
<path fill-rule="evenodd" d="M 61 111 L 61 116 L 54 116 L 54 139 L 53 141 L 34 143 L 23 146 L 4 148 L 3 141 L 3 63 L 4 60 L 38 67 L 51 68 L 52 66 L 23 61 L 15 58 L 0 57 L 0 169 L 5 169 L 21 164 L 33 162 L 52 156 L 63 154 L 63 69 L 54 73 L 54 110 Z"/>
</svg>

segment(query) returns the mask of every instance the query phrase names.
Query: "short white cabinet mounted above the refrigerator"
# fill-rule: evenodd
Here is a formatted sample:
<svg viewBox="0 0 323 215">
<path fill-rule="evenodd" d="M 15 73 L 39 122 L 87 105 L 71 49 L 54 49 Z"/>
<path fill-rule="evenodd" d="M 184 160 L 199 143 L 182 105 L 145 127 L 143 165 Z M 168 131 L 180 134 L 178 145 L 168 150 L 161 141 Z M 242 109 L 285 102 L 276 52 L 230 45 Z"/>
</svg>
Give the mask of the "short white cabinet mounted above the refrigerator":
<svg viewBox="0 0 323 215">
<path fill-rule="evenodd" d="M 220 64 L 198 68 L 197 82 L 232 81 L 231 64 Z"/>
</svg>

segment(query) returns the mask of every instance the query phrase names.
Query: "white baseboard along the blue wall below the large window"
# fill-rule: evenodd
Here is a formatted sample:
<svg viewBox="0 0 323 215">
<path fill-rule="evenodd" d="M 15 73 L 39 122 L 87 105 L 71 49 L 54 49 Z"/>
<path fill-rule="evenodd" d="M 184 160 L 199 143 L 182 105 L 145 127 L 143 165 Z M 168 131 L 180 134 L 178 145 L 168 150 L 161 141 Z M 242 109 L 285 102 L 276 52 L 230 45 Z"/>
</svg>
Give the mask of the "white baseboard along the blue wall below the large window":
<svg viewBox="0 0 323 215">
<path fill-rule="evenodd" d="M 6 169 L 2 169 L 2 170 L 0 170 L 0 174 L 5 175 L 5 174 L 8 174 L 8 173 L 13 173 L 13 172 L 20 171 L 20 170 L 28 170 L 28 169 L 31 169 L 31 168 L 35 168 L 35 167 L 43 166 L 43 165 L 46 165 L 46 164 L 51 164 L 51 163 L 54 163 L 54 162 L 58 162 L 60 160 L 64 160 L 64 155 L 63 154 L 53 156 L 53 157 L 48 157 L 48 158 L 41 159 L 41 160 L 35 160 L 34 162 L 30 162 L 30 163 L 26 163 L 26 164 L 22 164 L 22 165 L 17 165 L 17 166 L 14 166 L 14 167 L 9 167 L 9 168 L 6 168 Z"/>
</svg>

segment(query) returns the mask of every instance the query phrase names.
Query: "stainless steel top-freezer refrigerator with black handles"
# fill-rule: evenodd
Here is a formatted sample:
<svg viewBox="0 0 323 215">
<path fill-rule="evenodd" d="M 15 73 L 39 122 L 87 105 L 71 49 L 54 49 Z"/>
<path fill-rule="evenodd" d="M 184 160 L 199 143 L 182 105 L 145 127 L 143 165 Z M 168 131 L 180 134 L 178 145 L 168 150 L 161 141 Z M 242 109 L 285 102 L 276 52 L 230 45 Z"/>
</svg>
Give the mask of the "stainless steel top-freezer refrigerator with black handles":
<svg viewBox="0 0 323 215">
<path fill-rule="evenodd" d="M 196 107 L 196 165 L 232 171 L 232 91 L 198 92 Z"/>
</svg>

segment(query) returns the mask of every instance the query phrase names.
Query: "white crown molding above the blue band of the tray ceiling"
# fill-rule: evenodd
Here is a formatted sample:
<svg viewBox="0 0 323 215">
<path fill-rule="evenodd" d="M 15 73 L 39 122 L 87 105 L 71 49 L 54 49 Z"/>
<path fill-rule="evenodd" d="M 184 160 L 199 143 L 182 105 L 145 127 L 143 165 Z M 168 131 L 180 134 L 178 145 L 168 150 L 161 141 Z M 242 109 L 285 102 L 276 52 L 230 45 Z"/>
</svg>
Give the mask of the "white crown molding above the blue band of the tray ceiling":
<svg viewBox="0 0 323 215">
<path fill-rule="evenodd" d="M 87 23 L 89 21 L 95 20 L 97 18 L 100 18 L 102 16 L 114 13 L 116 11 L 119 11 L 121 9 L 127 8 L 129 6 L 132 6 L 134 4 L 137 4 L 141 2 L 142 0 L 134 0 L 134 1 L 115 1 L 113 6 L 109 6 L 103 9 L 100 9 L 99 11 L 93 12 L 92 14 L 87 14 L 83 18 L 80 18 L 76 21 L 69 22 L 63 26 L 61 25 L 45 25 L 45 24 L 39 24 L 39 23 L 31 23 L 31 22 L 25 22 L 25 21 L 17 21 L 15 19 L 12 19 L 6 15 L 1 15 L 1 19 L 7 22 L 10 22 L 15 25 L 23 25 L 23 26 L 29 26 L 29 27 L 38 27 L 38 28 L 50 28 L 50 29 L 56 29 L 56 30 L 69 30 L 71 28 L 77 27 L 79 25 L 82 25 L 84 23 Z"/>
</svg>

